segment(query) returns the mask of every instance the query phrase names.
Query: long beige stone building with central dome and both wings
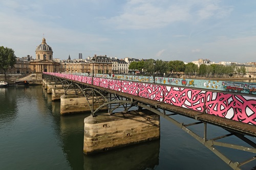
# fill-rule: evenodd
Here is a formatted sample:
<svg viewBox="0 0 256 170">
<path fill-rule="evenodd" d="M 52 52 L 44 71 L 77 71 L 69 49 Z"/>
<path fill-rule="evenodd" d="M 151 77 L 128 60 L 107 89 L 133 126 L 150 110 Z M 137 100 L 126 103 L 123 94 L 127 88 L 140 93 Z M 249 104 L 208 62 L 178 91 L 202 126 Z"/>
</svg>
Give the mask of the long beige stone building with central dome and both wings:
<svg viewBox="0 0 256 170">
<path fill-rule="evenodd" d="M 36 46 L 36 58 L 32 56 L 16 58 L 16 64 L 13 68 L 7 70 L 7 74 L 30 74 L 38 72 L 66 72 L 69 74 L 92 73 L 94 68 L 95 74 L 109 74 L 112 72 L 112 60 L 109 57 L 97 56 L 89 59 L 71 59 L 59 60 L 53 58 L 53 50 L 46 43 L 45 37 L 42 38 L 41 44 Z M 81 56 L 79 54 L 79 56 Z"/>
</svg>

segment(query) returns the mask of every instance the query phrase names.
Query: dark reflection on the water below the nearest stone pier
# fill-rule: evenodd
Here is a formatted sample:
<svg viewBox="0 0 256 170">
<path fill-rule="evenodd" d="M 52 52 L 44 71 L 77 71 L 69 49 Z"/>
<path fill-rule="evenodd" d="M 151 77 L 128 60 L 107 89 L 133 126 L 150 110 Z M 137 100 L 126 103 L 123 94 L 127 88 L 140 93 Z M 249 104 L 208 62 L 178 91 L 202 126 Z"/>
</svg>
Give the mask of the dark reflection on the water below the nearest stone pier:
<svg viewBox="0 0 256 170">
<path fill-rule="evenodd" d="M 160 140 L 96 155 L 84 155 L 83 169 L 154 169 L 159 164 Z"/>
</svg>

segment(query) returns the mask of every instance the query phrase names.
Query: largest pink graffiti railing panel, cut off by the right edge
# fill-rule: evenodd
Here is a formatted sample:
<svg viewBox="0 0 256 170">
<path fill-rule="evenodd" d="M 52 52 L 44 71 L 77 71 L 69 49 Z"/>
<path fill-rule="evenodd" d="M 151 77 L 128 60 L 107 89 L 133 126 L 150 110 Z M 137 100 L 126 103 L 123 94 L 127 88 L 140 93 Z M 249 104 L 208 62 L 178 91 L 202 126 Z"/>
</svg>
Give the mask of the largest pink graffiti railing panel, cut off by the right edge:
<svg viewBox="0 0 256 170">
<path fill-rule="evenodd" d="M 207 92 L 206 113 L 256 125 L 256 98 Z"/>
</svg>

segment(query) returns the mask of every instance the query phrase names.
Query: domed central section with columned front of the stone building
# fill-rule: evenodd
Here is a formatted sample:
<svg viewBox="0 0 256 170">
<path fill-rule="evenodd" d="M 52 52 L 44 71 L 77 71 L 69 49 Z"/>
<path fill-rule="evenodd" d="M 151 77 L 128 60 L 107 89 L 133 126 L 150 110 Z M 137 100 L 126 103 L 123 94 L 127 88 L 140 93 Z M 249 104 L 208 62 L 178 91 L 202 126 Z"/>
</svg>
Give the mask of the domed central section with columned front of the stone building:
<svg viewBox="0 0 256 170">
<path fill-rule="evenodd" d="M 53 60 L 52 47 L 46 43 L 45 37 L 42 38 L 41 44 L 36 46 L 36 59 L 30 61 L 30 69 L 32 72 L 57 72 L 59 70 L 59 62 Z"/>
</svg>

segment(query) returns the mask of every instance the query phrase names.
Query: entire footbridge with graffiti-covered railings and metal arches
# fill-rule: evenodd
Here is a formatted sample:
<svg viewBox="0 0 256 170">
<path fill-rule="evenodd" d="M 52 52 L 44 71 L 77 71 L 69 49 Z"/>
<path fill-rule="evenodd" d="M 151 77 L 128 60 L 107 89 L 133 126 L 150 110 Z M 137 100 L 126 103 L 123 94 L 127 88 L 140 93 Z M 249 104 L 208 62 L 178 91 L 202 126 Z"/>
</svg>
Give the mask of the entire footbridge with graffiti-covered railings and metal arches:
<svg viewBox="0 0 256 170">
<path fill-rule="evenodd" d="M 45 81 L 48 82 L 48 86 L 51 83 L 53 89 L 57 88 L 58 85 L 61 86 L 64 90 L 64 96 L 71 93 L 83 96 L 83 99 L 85 99 L 83 103 L 87 103 L 86 106 L 91 111 L 91 117 L 84 120 L 85 138 L 90 133 L 89 129 L 91 128 L 91 125 L 86 127 L 86 124 L 91 124 L 92 121 L 99 123 L 105 119 L 105 117 L 102 118 L 100 116 L 102 114 L 99 113 L 100 110 L 108 110 L 108 115 L 115 115 L 114 111 L 117 108 L 123 108 L 124 113 L 127 113 L 130 111 L 129 109 L 138 107 L 139 111 L 146 109 L 150 113 L 169 120 L 169 122 L 197 139 L 232 169 L 242 169 L 241 166 L 256 158 L 251 156 L 242 162 L 232 161 L 218 150 L 218 147 L 225 147 L 252 154 L 256 153 L 256 144 L 253 141 L 256 137 L 256 88 L 254 88 L 254 84 L 173 79 L 171 81 L 175 85 L 172 85 L 169 83 L 169 79 L 167 80 L 168 83 L 165 84 L 165 78 L 154 78 L 152 80 L 150 77 L 138 77 L 137 79 L 133 78 L 133 80 L 137 81 L 132 81 L 123 76 L 114 78 L 108 77 L 108 75 L 89 77 L 87 75 L 69 75 L 52 72 L 44 72 L 43 75 Z M 156 80 L 162 81 L 157 82 Z M 195 83 L 196 81 L 199 83 Z M 178 84 L 179 82 L 181 83 L 180 85 Z M 70 96 L 61 96 L 61 100 L 69 99 L 69 101 L 73 101 L 73 95 Z M 174 115 L 186 116 L 193 119 L 194 123 L 184 124 L 175 119 Z M 152 123 L 157 120 L 157 117 L 152 115 L 150 117 L 147 115 L 146 117 L 144 122 L 143 119 L 145 117 L 142 120 L 138 119 L 137 122 Z M 131 119 L 135 119 L 135 116 L 133 115 Z M 120 117 L 115 119 L 116 122 L 119 120 Z M 111 121 L 113 121 L 113 117 Z M 200 124 L 203 125 L 201 126 L 203 135 L 191 130 L 193 129 L 191 127 Z M 215 138 L 207 138 L 207 124 L 221 127 L 227 131 L 227 134 Z M 103 125 L 103 128 L 112 127 L 112 124 L 110 125 L 110 123 L 105 122 L 101 125 Z M 122 124 L 119 126 L 122 126 Z M 160 127 L 160 125 L 155 121 L 152 127 Z M 247 144 L 239 145 L 218 141 L 229 136 L 234 136 Z M 132 133 L 126 133 L 126 137 L 130 137 L 129 140 L 131 140 L 134 136 Z M 153 136 L 147 139 L 157 139 L 158 137 Z M 93 138 L 93 140 L 96 139 Z M 97 138 L 97 140 L 99 139 Z M 145 139 L 141 141 L 145 141 Z M 133 141 L 131 143 L 138 142 Z M 111 143 L 111 141 L 106 143 Z M 91 142 L 90 144 L 93 145 L 94 143 Z M 103 149 L 108 150 L 109 148 Z"/>
</svg>

